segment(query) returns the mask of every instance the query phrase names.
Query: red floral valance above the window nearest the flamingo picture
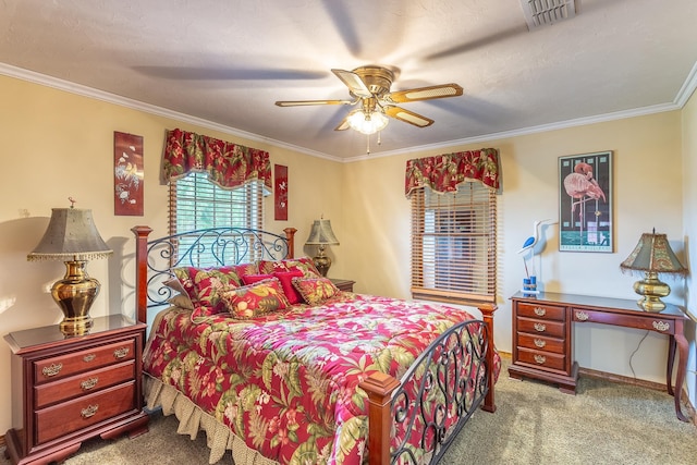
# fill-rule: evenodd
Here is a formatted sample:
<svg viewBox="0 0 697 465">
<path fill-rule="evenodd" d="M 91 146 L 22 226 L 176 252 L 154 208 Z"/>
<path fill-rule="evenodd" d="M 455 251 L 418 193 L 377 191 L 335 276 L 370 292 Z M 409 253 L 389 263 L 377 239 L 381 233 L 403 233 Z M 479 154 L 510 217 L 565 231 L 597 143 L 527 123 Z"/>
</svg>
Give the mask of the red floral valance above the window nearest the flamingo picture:
<svg viewBox="0 0 697 465">
<path fill-rule="evenodd" d="M 404 193 L 409 197 L 412 191 L 424 187 L 440 193 L 455 192 L 458 184 L 473 181 L 499 191 L 500 178 L 499 150 L 496 148 L 414 158 L 406 162 Z"/>
</svg>

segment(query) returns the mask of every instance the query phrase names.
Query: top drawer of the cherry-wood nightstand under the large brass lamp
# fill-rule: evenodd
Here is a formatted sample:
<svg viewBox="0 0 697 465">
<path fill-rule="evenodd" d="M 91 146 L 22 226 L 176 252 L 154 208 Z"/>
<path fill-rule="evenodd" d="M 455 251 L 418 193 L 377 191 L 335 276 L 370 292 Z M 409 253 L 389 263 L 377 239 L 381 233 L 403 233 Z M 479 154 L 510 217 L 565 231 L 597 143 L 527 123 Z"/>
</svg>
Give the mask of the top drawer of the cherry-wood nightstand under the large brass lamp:
<svg viewBox="0 0 697 465">
<path fill-rule="evenodd" d="M 133 359 L 135 341 L 129 339 L 86 351 L 44 358 L 34 363 L 34 379 L 37 384 L 65 378 L 83 371 Z"/>
</svg>

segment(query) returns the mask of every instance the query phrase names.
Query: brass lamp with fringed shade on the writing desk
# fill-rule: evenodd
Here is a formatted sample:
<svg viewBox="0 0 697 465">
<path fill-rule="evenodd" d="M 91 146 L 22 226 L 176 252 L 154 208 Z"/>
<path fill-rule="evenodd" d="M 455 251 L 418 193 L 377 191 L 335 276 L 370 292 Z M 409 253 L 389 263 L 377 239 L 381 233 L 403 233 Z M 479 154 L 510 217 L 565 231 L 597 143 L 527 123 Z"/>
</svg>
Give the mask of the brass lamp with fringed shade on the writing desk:
<svg viewBox="0 0 697 465">
<path fill-rule="evenodd" d="M 637 304 L 646 311 L 661 311 L 665 304 L 660 297 L 671 293 L 671 287 L 659 281 L 658 273 L 687 274 L 670 244 L 665 234 L 641 234 L 639 243 L 620 268 L 623 271 L 644 271 L 644 279 L 634 283 L 634 292 L 644 297 Z"/>
</svg>

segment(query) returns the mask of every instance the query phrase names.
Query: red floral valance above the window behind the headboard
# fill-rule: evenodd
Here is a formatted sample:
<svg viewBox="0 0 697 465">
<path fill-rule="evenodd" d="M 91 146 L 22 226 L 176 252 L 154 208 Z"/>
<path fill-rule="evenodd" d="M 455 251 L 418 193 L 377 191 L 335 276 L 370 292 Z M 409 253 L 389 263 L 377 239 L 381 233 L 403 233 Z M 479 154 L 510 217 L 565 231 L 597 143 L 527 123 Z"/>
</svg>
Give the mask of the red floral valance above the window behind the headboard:
<svg viewBox="0 0 697 465">
<path fill-rule="evenodd" d="M 208 180 L 222 188 L 259 180 L 269 192 L 272 189 L 267 151 L 187 131 L 168 131 L 162 181 L 175 181 L 191 172 L 208 173 Z"/>
</svg>

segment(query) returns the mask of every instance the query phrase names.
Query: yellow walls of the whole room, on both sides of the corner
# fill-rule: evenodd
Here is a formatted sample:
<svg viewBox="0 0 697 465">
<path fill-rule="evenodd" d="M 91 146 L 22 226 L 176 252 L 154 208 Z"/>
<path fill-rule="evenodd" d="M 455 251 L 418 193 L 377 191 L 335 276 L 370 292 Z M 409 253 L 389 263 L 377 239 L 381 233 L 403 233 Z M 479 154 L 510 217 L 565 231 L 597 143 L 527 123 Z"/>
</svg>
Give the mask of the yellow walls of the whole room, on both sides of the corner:
<svg viewBox="0 0 697 465">
<path fill-rule="evenodd" d="M 615 250 L 612 254 L 558 252 L 550 229 L 538 276 L 549 291 L 634 298 L 635 278 L 624 276 L 619 264 L 629 254 L 641 232 L 656 227 L 683 257 L 683 243 L 697 234 L 697 193 L 681 174 L 697 169 L 697 103 L 683 112 L 592 124 L 546 133 L 492 139 L 403 156 L 339 163 L 248 140 L 236 135 L 192 125 L 147 111 L 137 111 L 95 98 L 0 76 L 0 332 L 53 325 L 62 314 L 46 293 L 63 273 L 60 262 L 27 262 L 26 254 L 41 237 L 50 209 L 90 208 L 108 244 L 109 260 L 88 265 L 102 283 L 91 315 L 133 315 L 133 240 L 130 229 L 148 224 L 154 236 L 166 232 L 167 187 L 159 184 L 164 130 L 181 127 L 268 150 L 272 163 L 289 167 L 289 221 L 272 220 L 267 198 L 267 227 L 281 231 L 295 227 L 296 255 L 303 249 L 314 219 L 331 219 L 341 245 L 330 247 L 334 259 L 329 274 L 357 281 L 359 292 L 409 296 L 409 204 L 404 197 L 404 164 L 408 158 L 440 152 L 496 147 L 503 162 L 503 194 L 499 199 L 499 310 L 496 341 L 511 350 L 511 313 L 508 297 L 523 277 L 515 253 L 530 235 L 533 221 L 558 218 L 558 157 L 614 151 Z M 145 216 L 115 217 L 112 200 L 113 132 L 144 136 Z M 428 131 L 428 130 L 424 130 Z M 683 138 L 683 135 L 685 137 Z M 685 160 L 683 158 L 683 152 Z M 694 249 L 695 247 L 693 247 Z M 695 259 L 692 250 L 690 258 Z M 673 286 L 671 302 L 682 303 L 685 289 Z M 695 295 L 689 296 L 692 306 Z M 632 376 L 629 356 L 644 334 L 632 330 L 584 326 L 576 329 L 576 358 L 584 367 Z M 694 338 L 693 338 L 694 339 Z M 636 376 L 661 381 L 665 340 L 650 334 L 633 358 Z M 611 357 L 607 354 L 612 354 Z M 693 362 L 694 366 L 694 362 Z M 10 351 L 0 343 L 0 372 L 9 372 Z M 693 368 L 694 369 L 694 368 Z M 505 376 L 505 375 L 504 375 Z M 693 377 L 694 375 L 688 375 Z M 688 380 L 689 384 L 689 380 Z M 692 382 L 694 386 L 694 380 Z M 694 388 L 693 388 L 694 392 Z M 0 378 L 0 433 L 11 426 L 10 379 Z M 694 397 L 693 397 L 694 403 Z"/>
</svg>

